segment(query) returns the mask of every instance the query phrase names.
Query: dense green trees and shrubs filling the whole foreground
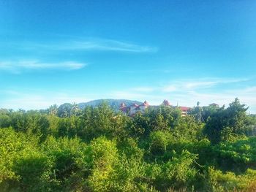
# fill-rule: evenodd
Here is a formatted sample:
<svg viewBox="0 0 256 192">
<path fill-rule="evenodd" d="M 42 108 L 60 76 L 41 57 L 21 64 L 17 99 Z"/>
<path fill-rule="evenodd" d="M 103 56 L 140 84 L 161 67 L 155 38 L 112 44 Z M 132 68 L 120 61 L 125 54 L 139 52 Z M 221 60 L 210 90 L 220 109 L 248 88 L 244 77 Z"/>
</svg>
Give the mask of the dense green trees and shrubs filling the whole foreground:
<svg viewBox="0 0 256 192">
<path fill-rule="evenodd" d="M 0 110 L 0 191 L 256 191 L 256 117 L 238 99 L 161 106 L 130 118 L 108 104 Z"/>
</svg>

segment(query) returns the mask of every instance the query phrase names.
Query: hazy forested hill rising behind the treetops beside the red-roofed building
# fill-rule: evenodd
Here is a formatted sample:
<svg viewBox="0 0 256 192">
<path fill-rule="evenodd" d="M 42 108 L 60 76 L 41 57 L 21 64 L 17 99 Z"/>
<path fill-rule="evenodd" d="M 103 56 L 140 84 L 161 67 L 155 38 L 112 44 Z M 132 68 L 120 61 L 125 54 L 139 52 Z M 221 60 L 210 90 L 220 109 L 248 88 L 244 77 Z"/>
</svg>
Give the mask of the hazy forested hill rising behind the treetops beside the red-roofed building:
<svg viewBox="0 0 256 192">
<path fill-rule="evenodd" d="M 127 99 L 97 99 L 97 100 L 93 100 L 93 101 L 89 101 L 86 103 L 80 103 L 78 104 L 78 107 L 80 107 L 81 109 L 87 107 L 87 106 L 92 106 L 92 107 L 96 107 L 99 104 L 101 104 L 102 102 L 107 102 L 111 108 L 113 108 L 113 110 L 119 110 L 120 104 L 124 103 L 126 105 L 131 105 L 131 104 L 142 104 L 143 102 L 141 101 L 132 101 L 132 100 L 127 100 Z"/>
</svg>

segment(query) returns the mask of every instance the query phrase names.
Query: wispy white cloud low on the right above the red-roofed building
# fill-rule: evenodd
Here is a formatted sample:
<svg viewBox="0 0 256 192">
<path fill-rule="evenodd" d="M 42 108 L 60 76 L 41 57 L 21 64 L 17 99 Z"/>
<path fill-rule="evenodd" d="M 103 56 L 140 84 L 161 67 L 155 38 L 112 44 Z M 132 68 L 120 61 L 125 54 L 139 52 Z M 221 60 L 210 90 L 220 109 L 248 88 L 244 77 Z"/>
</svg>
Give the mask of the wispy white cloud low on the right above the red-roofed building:
<svg viewBox="0 0 256 192">
<path fill-rule="evenodd" d="M 112 93 L 116 99 L 148 100 L 151 104 L 161 104 L 168 99 L 173 105 L 193 107 L 197 101 L 201 105 L 217 103 L 226 106 L 236 97 L 249 106 L 249 112 L 256 113 L 256 87 L 244 86 L 246 78 L 203 78 L 180 80 L 158 87 L 127 88 Z M 246 83 L 247 84 L 247 83 Z"/>
</svg>

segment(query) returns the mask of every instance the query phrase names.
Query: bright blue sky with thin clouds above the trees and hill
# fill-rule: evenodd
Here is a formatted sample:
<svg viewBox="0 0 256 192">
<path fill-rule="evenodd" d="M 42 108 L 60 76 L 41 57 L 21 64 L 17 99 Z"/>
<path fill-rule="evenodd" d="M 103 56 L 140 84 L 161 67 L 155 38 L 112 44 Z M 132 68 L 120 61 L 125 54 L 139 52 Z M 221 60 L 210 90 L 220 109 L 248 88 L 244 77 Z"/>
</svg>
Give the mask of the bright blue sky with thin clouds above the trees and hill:
<svg viewBox="0 0 256 192">
<path fill-rule="evenodd" d="M 92 99 L 256 113 L 256 1 L 0 0 L 0 108 Z"/>
</svg>

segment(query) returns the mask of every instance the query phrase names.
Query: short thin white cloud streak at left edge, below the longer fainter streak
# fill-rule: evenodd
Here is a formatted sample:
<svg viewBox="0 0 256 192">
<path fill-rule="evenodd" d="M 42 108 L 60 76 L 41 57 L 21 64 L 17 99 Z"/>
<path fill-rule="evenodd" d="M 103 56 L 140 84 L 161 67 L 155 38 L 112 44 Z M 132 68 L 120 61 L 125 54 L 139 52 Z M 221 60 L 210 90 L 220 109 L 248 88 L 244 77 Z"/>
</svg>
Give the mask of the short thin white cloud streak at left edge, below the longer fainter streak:
<svg viewBox="0 0 256 192">
<path fill-rule="evenodd" d="M 42 69 L 61 69 L 61 70 L 77 70 L 82 69 L 87 64 L 75 61 L 60 63 L 45 63 L 40 61 L 0 61 L 0 70 L 19 73 L 23 70 L 42 70 Z"/>
</svg>

